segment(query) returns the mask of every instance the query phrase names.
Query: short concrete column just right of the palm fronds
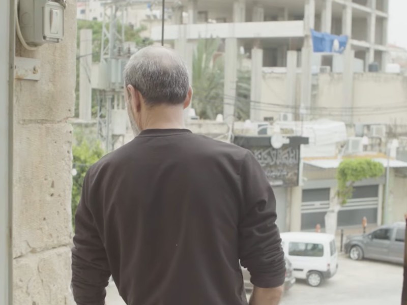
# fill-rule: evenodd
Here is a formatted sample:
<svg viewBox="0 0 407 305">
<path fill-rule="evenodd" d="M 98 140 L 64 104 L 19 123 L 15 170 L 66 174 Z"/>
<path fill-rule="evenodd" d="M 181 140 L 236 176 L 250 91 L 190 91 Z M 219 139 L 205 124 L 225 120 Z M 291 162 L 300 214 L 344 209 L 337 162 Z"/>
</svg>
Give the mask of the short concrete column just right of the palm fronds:
<svg viewBox="0 0 407 305">
<path fill-rule="evenodd" d="M 250 91 L 250 119 L 263 121 L 261 116 L 261 85 L 263 85 L 263 49 L 254 47 L 251 50 L 251 91 Z"/>
</svg>

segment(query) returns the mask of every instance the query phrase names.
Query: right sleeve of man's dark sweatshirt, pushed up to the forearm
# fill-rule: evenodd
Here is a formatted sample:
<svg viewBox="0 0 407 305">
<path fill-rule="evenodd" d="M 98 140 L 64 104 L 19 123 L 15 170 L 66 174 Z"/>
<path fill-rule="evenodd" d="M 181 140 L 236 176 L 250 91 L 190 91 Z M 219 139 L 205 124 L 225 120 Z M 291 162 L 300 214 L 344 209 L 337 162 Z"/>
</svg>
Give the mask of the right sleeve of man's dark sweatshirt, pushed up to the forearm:
<svg viewBox="0 0 407 305">
<path fill-rule="evenodd" d="M 241 265 L 259 288 L 284 284 L 285 261 L 276 225 L 276 199 L 266 174 L 251 152 L 241 168 L 243 208 L 239 224 Z"/>
</svg>

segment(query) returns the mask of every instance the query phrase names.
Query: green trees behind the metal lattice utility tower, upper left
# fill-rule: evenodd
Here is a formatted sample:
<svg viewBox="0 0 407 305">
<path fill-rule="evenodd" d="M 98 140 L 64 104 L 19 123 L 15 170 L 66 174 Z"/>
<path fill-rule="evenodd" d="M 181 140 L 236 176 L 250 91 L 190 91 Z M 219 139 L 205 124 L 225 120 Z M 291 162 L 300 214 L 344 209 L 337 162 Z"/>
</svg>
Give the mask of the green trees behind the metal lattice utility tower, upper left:
<svg viewBox="0 0 407 305">
<path fill-rule="evenodd" d="M 98 63 L 100 62 L 100 54 L 101 54 L 101 45 L 102 45 L 102 22 L 97 20 L 77 20 L 77 36 L 76 36 L 76 48 L 77 54 L 79 54 L 79 47 L 80 47 L 80 34 L 79 31 L 81 29 L 92 29 L 92 62 Z M 107 24 L 107 28 L 109 25 Z M 139 28 L 132 28 L 130 25 L 125 25 L 124 28 L 124 36 L 125 41 L 135 42 L 136 46 L 138 47 L 145 47 L 151 45 L 153 42 L 149 38 L 143 38 L 140 36 L 141 32 L 143 32 L 146 28 L 139 27 Z M 118 24 L 118 32 L 121 33 L 122 31 L 122 24 Z M 76 104 L 75 104 L 75 117 L 79 116 L 79 56 L 76 60 Z M 97 100 L 96 94 L 93 93 L 93 101 L 92 101 L 92 115 L 95 116 L 97 113 Z"/>
</svg>

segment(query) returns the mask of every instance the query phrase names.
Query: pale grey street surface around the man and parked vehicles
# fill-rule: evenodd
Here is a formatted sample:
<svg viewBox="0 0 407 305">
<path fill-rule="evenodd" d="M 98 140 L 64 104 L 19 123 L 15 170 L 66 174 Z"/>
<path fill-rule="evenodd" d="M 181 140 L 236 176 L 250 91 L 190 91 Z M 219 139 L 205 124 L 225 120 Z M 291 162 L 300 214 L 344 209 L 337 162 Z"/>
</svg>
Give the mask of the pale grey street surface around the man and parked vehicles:
<svg viewBox="0 0 407 305">
<path fill-rule="evenodd" d="M 338 273 L 332 279 L 317 288 L 298 280 L 284 295 L 281 305 L 400 303 L 402 266 L 369 260 L 352 261 L 343 255 L 338 262 Z M 114 283 L 107 288 L 106 305 L 125 305 Z"/>
</svg>

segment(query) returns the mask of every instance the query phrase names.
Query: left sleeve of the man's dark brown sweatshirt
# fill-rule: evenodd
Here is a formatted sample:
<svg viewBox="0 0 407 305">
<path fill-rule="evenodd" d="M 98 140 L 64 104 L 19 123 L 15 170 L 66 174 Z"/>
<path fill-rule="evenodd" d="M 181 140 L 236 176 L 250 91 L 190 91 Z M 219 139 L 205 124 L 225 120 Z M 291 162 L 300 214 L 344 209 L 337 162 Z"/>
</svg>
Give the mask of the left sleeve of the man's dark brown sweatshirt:
<svg viewBox="0 0 407 305">
<path fill-rule="evenodd" d="M 104 305 L 110 277 L 109 264 L 94 218 L 89 209 L 89 172 L 75 215 L 72 248 L 72 291 L 78 305 Z"/>
</svg>

